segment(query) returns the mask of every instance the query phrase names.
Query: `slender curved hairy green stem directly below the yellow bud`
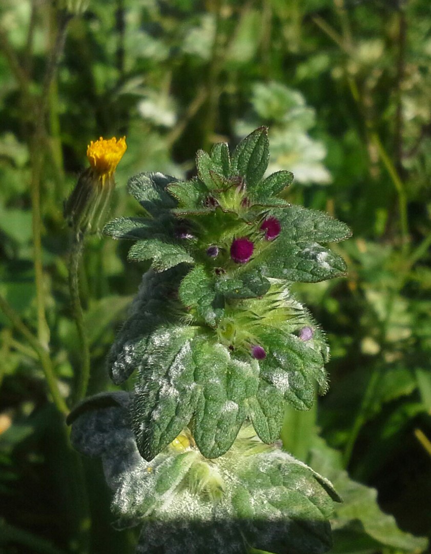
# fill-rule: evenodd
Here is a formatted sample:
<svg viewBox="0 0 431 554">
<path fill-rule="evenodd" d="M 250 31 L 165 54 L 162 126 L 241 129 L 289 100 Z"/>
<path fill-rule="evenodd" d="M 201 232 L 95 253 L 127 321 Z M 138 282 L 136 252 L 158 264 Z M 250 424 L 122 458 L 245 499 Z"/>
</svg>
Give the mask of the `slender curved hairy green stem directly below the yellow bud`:
<svg viewBox="0 0 431 554">
<path fill-rule="evenodd" d="M 79 293 L 79 265 L 84 252 L 84 236 L 74 235 L 69 258 L 69 290 L 72 303 L 72 315 L 75 320 L 78 340 L 81 347 L 81 368 L 77 373 L 74 403 L 85 397 L 90 379 L 90 346 L 84 327 L 81 297 Z"/>
</svg>

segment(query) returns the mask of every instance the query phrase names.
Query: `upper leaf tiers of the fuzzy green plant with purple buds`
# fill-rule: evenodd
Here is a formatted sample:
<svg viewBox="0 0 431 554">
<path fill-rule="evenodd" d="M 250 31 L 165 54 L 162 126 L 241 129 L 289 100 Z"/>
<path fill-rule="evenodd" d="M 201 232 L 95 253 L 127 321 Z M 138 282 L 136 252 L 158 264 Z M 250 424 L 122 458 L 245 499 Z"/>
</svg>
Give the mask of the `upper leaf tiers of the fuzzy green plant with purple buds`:
<svg viewBox="0 0 431 554">
<path fill-rule="evenodd" d="M 226 144 L 198 152 L 191 181 L 134 176 L 129 191 L 146 216 L 105 228 L 135 241 L 129 259 L 152 265 L 109 360 L 117 384 L 137 370 L 132 427 L 147 460 L 186 425 L 206 458 L 224 454 L 246 418 L 271 443 L 285 401 L 309 409 L 326 390 L 328 347 L 289 285 L 344 275 L 322 243 L 350 232 L 280 197 L 293 176 L 264 178 L 268 160 L 261 127 L 232 157 Z"/>
</svg>

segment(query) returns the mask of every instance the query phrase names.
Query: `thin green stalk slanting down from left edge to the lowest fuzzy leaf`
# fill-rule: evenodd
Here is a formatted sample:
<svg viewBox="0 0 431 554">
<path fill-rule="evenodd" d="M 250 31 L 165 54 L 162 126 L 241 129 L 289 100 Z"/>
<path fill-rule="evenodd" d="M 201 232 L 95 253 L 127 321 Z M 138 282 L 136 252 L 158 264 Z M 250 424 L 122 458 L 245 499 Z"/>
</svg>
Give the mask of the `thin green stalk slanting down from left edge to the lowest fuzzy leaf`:
<svg viewBox="0 0 431 554">
<path fill-rule="evenodd" d="M 28 329 L 27 325 L 24 324 L 22 319 L 19 317 L 17 312 L 13 307 L 7 302 L 6 299 L 0 295 L 0 309 L 3 311 L 4 315 L 11 321 L 12 325 L 17 329 L 29 342 L 30 346 L 39 356 L 40 365 L 45 374 L 46 383 L 48 384 L 49 392 L 53 397 L 55 406 L 58 408 L 59 412 L 67 415 L 69 413 L 69 408 L 67 408 L 64 398 L 61 396 L 57 378 L 54 373 L 53 363 L 49 357 L 48 351 L 45 350 L 44 346 L 40 343 L 38 338 L 33 335 L 33 333 Z"/>
</svg>

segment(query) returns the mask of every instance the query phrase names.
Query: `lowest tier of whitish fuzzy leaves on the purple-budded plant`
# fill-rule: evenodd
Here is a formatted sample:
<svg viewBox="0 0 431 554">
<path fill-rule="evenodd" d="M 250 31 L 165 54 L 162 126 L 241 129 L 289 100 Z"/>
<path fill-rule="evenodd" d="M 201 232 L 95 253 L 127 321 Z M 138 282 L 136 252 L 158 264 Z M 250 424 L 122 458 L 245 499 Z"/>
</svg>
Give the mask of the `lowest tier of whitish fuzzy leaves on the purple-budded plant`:
<svg viewBox="0 0 431 554">
<path fill-rule="evenodd" d="M 142 525 L 138 553 L 240 554 L 247 543 L 283 554 L 287 541 L 298 554 L 328 550 L 328 517 L 340 500 L 328 480 L 250 427 L 215 460 L 202 458 L 185 431 L 148 463 L 121 394 L 105 407 L 87 401 L 72 415 L 71 437 L 80 452 L 101 457 L 117 526 Z"/>
</svg>

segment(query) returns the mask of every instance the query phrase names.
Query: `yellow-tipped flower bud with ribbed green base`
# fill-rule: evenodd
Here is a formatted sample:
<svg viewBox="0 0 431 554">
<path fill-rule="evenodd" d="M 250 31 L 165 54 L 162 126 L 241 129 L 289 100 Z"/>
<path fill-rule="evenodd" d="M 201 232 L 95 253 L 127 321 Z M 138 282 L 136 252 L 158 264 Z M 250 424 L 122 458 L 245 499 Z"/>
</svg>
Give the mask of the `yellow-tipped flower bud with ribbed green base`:
<svg viewBox="0 0 431 554">
<path fill-rule="evenodd" d="M 64 206 L 64 217 L 78 236 L 97 232 L 105 223 L 115 189 L 114 173 L 126 148 L 126 137 L 100 137 L 87 147 L 90 167 L 81 173 Z"/>
</svg>

